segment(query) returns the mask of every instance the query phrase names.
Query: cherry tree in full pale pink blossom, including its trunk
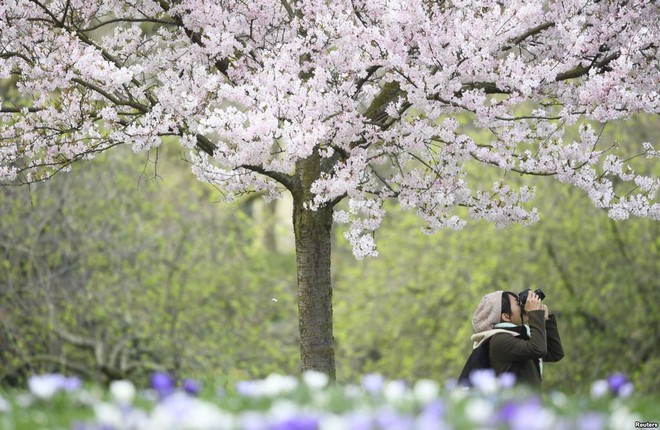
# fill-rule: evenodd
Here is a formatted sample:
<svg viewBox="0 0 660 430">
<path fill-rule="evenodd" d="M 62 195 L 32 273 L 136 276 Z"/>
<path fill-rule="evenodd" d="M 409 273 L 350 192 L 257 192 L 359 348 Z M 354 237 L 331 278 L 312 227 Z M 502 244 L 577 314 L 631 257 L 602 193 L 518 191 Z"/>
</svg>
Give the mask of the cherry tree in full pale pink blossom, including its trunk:
<svg viewBox="0 0 660 430">
<path fill-rule="evenodd" d="M 658 112 L 658 8 L 4 0 L 0 180 L 42 181 L 116 145 L 165 143 L 181 145 L 227 200 L 289 192 L 302 370 L 334 375 L 335 222 L 350 224 L 358 258 L 377 254 L 388 199 L 427 232 L 468 219 L 533 223 L 534 189 L 513 174 L 579 187 L 614 219 L 660 218 L 659 180 L 599 139 L 600 124 Z M 657 160 L 651 143 L 638 149 Z M 472 165 L 500 179 L 472 181 Z"/>
</svg>

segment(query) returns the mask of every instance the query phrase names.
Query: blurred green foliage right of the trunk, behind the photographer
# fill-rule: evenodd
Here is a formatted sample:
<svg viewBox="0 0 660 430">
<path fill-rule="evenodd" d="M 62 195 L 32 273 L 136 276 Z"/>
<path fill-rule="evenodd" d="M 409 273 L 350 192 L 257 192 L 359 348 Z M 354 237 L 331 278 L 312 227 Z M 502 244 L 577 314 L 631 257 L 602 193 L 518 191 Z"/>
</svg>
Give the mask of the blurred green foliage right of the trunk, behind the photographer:
<svg viewBox="0 0 660 430">
<path fill-rule="evenodd" d="M 653 141 L 657 121 L 608 125 L 602 139 L 631 157 Z M 640 170 L 656 177 L 650 163 Z M 475 178 L 492 172 L 473 170 Z M 512 179 L 509 178 L 509 181 Z M 610 220 L 584 193 L 549 178 L 519 178 L 537 189 L 541 221 L 496 229 L 471 222 L 425 236 L 413 214 L 392 209 L 377 233 L 380 255 L 354 262 L 335 248 L 338 375 L 457 377 L 471 349 L 472 313 L 484 294 L 542 288 L 557 314 L 566 356 L 545 366 L 547 389 L 578 391 L 615 371 L 642 392 L 660 387 L 660 225 Z"/>
</svg>

